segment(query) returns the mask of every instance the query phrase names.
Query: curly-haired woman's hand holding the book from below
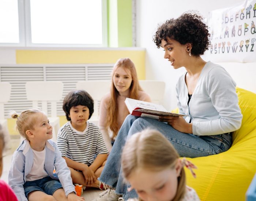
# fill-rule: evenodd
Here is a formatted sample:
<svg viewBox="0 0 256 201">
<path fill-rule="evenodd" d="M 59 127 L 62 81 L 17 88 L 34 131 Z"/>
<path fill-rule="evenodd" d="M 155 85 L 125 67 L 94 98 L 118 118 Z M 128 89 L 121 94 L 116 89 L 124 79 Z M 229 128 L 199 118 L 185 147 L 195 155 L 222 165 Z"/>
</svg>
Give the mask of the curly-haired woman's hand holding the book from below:
<svg viewBox="0 0 256 201">
<path fill-rule="evenodd" d="M 160 116 L 158 121 L 167 122 L 174 129 L 182 133 L 192 134 L 192 124 L 187 123 L 183 117 Z"/>
</svg>

